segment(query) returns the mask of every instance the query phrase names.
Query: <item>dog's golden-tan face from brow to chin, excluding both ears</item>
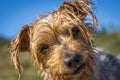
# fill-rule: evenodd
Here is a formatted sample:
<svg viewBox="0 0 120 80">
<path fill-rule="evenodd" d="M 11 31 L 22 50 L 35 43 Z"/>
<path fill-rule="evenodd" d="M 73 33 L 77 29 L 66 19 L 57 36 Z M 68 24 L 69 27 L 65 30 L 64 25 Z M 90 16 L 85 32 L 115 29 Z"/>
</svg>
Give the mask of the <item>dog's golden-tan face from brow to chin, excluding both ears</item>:
<svg viewBox="0 0 120 80">
<path fill-rule="evenodd" d="M 30 50 L 37 56 L 40 67 L 60 75 L 82 71 L 91 51 L 83 42 L 81 25 L 72 19 L 65 19 L 60 26 L 54 26 L 54 22 L 53 27 L 49 23 L 39 23 L 34 27 Z"/>
</svg>

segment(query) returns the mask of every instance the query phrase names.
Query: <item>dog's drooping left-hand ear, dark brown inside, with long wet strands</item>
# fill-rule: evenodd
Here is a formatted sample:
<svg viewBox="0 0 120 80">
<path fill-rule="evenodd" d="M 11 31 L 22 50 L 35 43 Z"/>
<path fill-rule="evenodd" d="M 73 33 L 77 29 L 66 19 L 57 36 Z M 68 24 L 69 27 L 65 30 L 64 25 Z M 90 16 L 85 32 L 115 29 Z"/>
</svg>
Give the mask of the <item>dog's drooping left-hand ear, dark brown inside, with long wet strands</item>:
<svg viewBox="0 0 120 80">
<path fill-rule="evenodd" d="M 11 41 L 9 45 L 9 51 L 12 56 L 15 69 L 18 73 L 21 73 L 21 66 L 18 55 L 20 52 L 29 51 L 30 46 L 30 27 L 29 25 L 23 26 L 20 33 Z"/>
</svg>

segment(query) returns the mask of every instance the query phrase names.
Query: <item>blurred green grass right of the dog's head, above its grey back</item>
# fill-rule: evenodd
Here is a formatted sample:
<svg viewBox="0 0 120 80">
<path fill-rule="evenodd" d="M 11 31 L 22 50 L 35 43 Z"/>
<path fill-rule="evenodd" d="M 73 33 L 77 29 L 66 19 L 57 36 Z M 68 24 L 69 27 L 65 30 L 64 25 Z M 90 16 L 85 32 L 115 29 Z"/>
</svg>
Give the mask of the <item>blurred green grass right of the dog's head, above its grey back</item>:
<svg viewBox="0 0 120 80">
<path fill-rule="evenodd" d="M 120 54 L 120 33 L 97 34 L 95 37 L 97 47 L 103 48 L 112 54 Z"/>
</svg>

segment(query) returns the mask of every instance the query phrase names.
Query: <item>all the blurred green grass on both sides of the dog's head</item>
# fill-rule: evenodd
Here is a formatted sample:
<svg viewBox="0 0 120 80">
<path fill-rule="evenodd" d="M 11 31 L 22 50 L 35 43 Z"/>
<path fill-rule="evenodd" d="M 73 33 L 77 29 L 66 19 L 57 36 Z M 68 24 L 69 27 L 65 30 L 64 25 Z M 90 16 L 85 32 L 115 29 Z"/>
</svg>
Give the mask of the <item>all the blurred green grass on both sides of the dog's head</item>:
<svg viewBox="0 0 120 80">
<path fill-rule="evenodd" d="M 0 39 L 0 80 L 17 80 L 18 74 L 14 69 L 10 53 L 7 49 L 9 42 L 4 39 L 2 40 Z M 105 51 L 109 51 L 115 55 L 120 53 L 120 33 L 97 34 L 95 42 L 97 47 L 102 47 Z M 29 54 L 21 53 L 20 61 L 24 68 L 22 71 L 22 80 L 42 80 L 38 76 L 37 69 L 33 65 Z"/>
</svg>

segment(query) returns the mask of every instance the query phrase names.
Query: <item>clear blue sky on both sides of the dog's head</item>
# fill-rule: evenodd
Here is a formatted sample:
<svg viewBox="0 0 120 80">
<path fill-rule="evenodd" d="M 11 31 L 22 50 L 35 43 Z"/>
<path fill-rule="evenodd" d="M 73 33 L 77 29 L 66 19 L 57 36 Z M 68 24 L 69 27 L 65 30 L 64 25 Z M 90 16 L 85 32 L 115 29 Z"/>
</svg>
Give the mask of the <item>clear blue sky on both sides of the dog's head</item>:
<svg viewBox="0 0 120 80">
<path fill-rule="evenodd" d="M 64 0 L 0 0 L 0 36 L 12 38 L 37 16 L 57 10 Z M 100 25 L 114 24 L 120 30 L 120 0 L 94 0 Z"/>
</svg>

